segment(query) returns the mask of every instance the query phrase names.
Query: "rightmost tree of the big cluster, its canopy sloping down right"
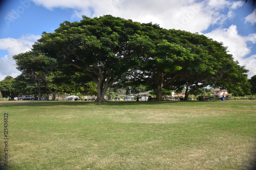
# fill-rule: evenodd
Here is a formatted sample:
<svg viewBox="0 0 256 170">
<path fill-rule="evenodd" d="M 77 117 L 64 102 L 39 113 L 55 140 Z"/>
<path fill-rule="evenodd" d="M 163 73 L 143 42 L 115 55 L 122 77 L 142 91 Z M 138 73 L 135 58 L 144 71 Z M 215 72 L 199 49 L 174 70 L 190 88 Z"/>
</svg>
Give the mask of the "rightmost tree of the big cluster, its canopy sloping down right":
<svg viewBox="0 0 256 170">
<path fill-rule="evenodd" d="M 177 43 L 190 48 L 191 53 L 195 54 L 193 61 L 183 65 L 183 77 L 176 82 L 177 87 L 186 88 L 185 100 L 188 100 L 189 94 L 207 86 L 227 89 L 240 95 L 248 92 L 248 70 L 233 60 L 222 43 L 185 31 L 173 30 L 173 36 L 179 38 L 180 42 Z"/>
</svg>

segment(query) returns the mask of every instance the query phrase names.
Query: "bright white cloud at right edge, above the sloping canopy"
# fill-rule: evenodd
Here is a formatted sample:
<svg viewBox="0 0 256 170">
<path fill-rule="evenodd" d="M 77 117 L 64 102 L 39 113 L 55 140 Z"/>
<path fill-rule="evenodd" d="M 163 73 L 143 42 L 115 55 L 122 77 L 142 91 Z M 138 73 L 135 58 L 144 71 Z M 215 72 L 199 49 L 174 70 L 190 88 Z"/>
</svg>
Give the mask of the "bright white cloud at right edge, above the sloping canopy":
<svg viewBox="0 0 256 170">
<path fill-rule="evenodd" d="M 234 60 L 237 60 L 240 65 L 245 65 L 246 69 L 250 70 L 248 76 L 256 75 L 256 55 L 244 58 L 251 52 L 246 42 L 251 41 L 255 43 L 256 34 L 241 36 L 238 34 L 237 26 L 232 25 L 228 29 L 217 29 L 205 34 L 205 36 L 218 42 L 223 42 L 223 45 L 227 46 L 228 53 L 233 55 Z"/>
</svg>

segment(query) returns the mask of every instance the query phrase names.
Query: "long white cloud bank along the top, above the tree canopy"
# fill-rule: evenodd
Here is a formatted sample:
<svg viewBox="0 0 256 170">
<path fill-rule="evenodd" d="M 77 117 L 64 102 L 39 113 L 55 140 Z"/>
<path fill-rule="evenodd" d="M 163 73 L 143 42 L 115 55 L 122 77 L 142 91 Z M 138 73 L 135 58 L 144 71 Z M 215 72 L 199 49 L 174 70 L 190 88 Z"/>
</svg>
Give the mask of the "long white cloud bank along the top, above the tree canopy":
<svg viewBox="0 0 256 170">
<path fill-rule="evenodd" d="M 74 10 L 72 18 L 81 15 L 98 17 L 114 15 L 138 22 L 158 23 L 166 29 L 180 29 L 189 32 L 202 32 L 211 25 L 222 25 L 226 19 L 232 19 L 234 12 L 228 16 L 222 14 L 225 8 L 236 9 L 242 1 L 227 0 L 32 0 L 37 5 L 48 9 L 70 8 Z"/>
</svg>

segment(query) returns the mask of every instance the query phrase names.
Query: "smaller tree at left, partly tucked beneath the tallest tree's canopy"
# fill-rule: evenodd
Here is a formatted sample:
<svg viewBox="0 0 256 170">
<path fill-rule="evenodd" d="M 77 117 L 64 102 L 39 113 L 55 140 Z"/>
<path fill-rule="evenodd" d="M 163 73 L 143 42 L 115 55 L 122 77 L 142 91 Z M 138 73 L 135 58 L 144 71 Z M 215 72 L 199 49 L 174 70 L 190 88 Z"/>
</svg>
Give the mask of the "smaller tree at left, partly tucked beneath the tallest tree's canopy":
<svg viewBox="0 0 256 170">
<path fill-rule="evenodd" d="M 88 76 L 62 69 L 62 67 L 59 68 L 56 64 L 56 59 L 49 58 L 39 51 L 21 53 L 13 56 L 13 58 L 16 61 L 17 68 L 22 71 L 23 75 L 19 77 L 19 79 L 22 80 L 18 80 L 15 83 L 16 87 L 22 90 L 19 90 L 20 92 L 27 91 L 25 90 L 27 87 L 31 89 L 37 87 L 37 94 L 40 99 L 41 88 L 45 88 L 51 92 L 52 100 L 55 100 L 56 93 L 59 91 L 85 91 L 84 88 L 86 87 L 82 87 L 80 84 L 84 79 L 88 79 Z M 26 76 L 26 78 L 24 76 Z M 33 80 L 34 83 L 31 82 L 31 80 Z"/>
</svg>

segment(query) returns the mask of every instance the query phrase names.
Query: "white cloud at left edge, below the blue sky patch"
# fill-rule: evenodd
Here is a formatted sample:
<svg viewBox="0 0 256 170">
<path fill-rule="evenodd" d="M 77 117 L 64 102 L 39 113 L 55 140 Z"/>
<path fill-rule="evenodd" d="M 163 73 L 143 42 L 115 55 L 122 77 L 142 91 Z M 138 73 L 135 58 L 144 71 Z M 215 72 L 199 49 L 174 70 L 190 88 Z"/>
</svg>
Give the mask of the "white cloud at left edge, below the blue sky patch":
<svg viewBox="0 0 256 170">
<path fill-rule="evenodd" d="M 0 50 L 8 51 L 8 55 L 0 56 L 0 81 L 6 76 L 16 77 L 20 74 L 15 68 L 15 61 L 12 59 L 12 56 L 31 50 L 32 45 L 39 38 L 40 36 L 26 35 L 18 39 L 0 39 Z"/>
</svg>

